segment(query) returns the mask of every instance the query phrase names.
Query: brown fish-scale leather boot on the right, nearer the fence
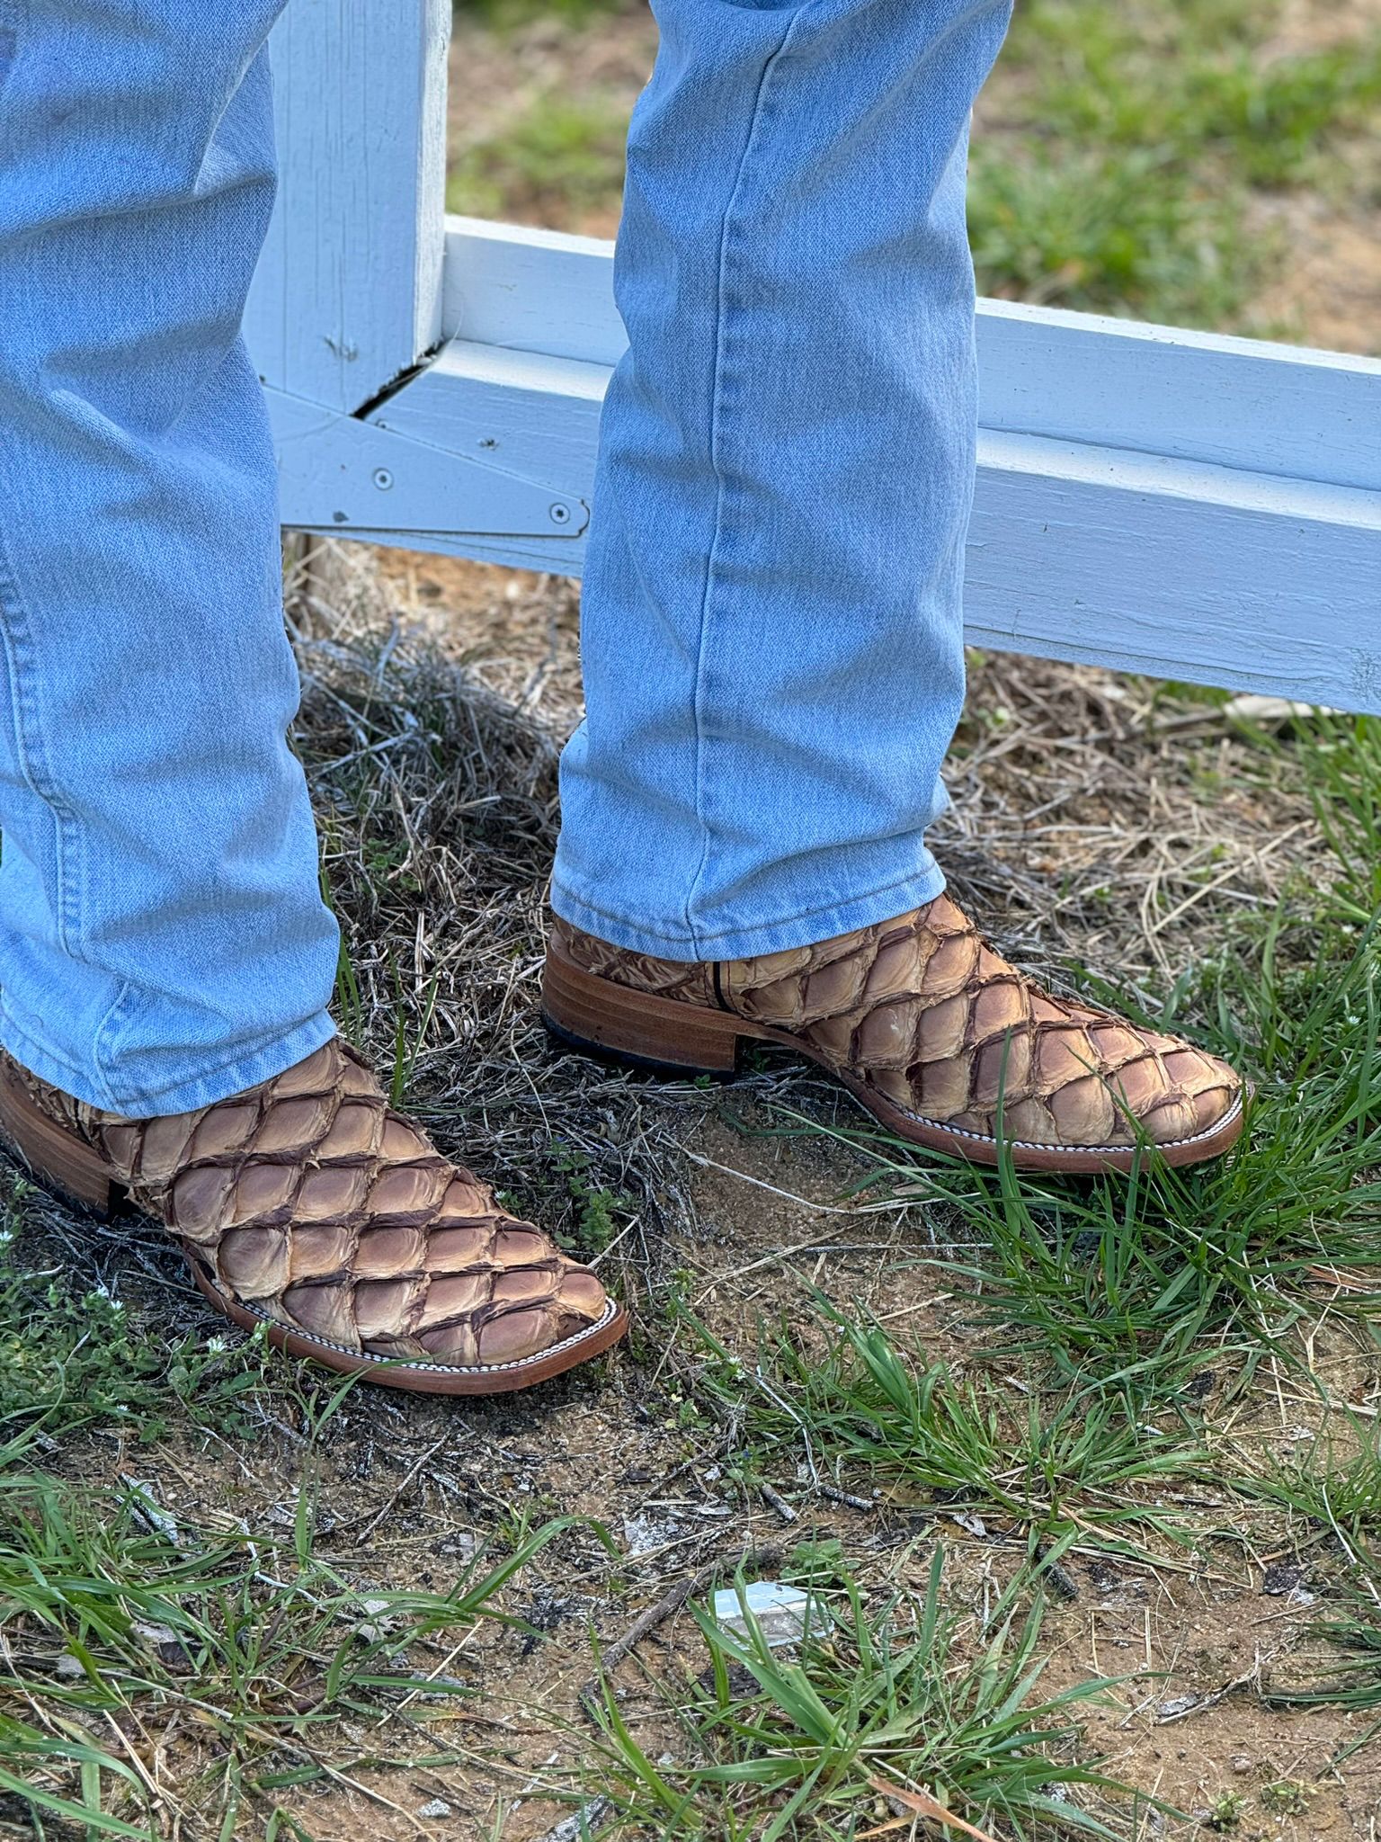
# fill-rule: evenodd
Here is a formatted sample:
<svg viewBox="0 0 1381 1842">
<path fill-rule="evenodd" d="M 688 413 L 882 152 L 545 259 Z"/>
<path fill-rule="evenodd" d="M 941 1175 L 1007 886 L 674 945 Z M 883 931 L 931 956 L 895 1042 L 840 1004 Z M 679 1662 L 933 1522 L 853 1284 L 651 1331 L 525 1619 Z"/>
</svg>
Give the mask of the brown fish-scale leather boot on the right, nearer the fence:
<svg viewBox="0 0 1381 1842">
<path fill-rule="evenodd" d="M 1243 1127 L 1234 1070 L 1178 1037 L 1046 991 L 939 895 L 911 914 L 759 960 L 630 952 L 554 919 L 543 1015 L 562 1041 L 643 1067 L 731 1074 L 746 1041 L 821 1063 L 899 1138 L 1020 1170 L 1169 1164 Z"/>
</svg>

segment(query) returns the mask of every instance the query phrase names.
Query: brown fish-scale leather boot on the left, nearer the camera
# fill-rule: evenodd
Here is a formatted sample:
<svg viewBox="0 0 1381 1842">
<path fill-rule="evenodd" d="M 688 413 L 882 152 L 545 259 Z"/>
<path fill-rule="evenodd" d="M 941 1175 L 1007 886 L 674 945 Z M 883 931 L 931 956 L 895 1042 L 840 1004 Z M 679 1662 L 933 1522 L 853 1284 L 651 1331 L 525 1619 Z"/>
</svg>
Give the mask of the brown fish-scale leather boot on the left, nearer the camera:
<svg viewBox="0 0 1381 1842">
<path fill-rule="evenodd" d="M 339 1037 L 243 1094 L 149 1120 L 88 1107 L 0 1052 L 0 1127 L 87 1208 L 109 1214 L 123 1192 L 162 1221 L 226 1317 L 344 1374 L 497 1394 L 628 1326 L 593 1273 L 394 1113 Z"/>
</svg>

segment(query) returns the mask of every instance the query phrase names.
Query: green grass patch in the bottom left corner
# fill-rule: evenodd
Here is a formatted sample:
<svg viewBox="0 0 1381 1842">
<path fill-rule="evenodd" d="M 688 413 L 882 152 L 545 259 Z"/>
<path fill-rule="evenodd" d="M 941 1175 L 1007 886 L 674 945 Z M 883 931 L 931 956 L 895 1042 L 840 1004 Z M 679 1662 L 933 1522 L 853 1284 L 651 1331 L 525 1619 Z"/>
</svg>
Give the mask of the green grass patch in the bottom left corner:
<svg viewBox="0 0 1381 1842">
<path fill-rule="evenodd" d="M 348 1579 L 319 1551 L 309 1486 L 291 1534 L 249 1534 L 11 1466 L 0 1527 L 0 1790 L 35 1824 L 157 1842 L 190 1798 L 230 1836 L 254 1811 L 273 1820 L 285 1787 L 355 1783 L 392 1750 L 416 1754 L 425 1724 L 401 1709 L 473 1695 L 436 1663 L 455 1645 L 431 1639 L 501 1615 L 495 1595 L 571 1521 L 475 1556 L 447 1593 Z M 138 1746 L 160 1728 L 197 1735 L 171 1803 Z"/>
</svg>

